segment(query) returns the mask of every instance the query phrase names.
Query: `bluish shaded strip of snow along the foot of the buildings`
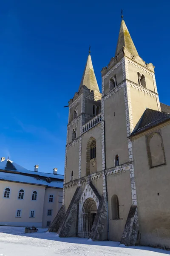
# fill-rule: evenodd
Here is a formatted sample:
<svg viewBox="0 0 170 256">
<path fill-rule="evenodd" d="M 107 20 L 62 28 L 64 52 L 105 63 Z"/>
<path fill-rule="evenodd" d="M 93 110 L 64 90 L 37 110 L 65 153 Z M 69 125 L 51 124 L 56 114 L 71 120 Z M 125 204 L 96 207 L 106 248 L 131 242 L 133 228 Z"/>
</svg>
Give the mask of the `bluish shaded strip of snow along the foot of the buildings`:
<svg viewBox="0 0 170 256">
<path fill-rule="evenodd" d="M 98 245 L 98 246 L 111 246 L 111 247 L 125 247 L 129 249 L 136 250 L 147 250 L 156 253 L 164 253 L 170 255 L 170 251 L 157 249 L 153 247 L 145 247 L 145 246 L 129 246 L 126 247 L 124 244 L 120 244 L 119 242 L 114 241 L 88 241 L 87 238 L 78 238 L 78 237 L 66 237 L 60 238 L 57 233 L 49 233 L 47 232 L 47 228 L 38 229 L 37 233 L 24 233 L 25 227 L 6 227 L 0 226 L 0 233 L 11 234 L 14 236 L 26 236 L 32 238 L 46 239 L 51 241 L 59 241 L 63 243 L 73 243 L 73 244 L 89 244 L 89 245 Z M 158 254 L 159 255 L 159 254 Z"/>
</svg>

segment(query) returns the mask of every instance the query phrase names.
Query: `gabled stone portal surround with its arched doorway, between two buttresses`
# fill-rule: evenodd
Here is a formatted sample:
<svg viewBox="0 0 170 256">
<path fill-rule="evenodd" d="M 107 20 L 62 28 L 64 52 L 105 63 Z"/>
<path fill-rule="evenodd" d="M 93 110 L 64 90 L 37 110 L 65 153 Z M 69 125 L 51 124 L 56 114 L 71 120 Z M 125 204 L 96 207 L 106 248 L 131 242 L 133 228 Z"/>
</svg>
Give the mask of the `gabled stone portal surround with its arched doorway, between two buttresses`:
<svg viewBox="0 0 170 256">
<path fill-rule="evenodd" d="M 90 237 L 99 200 L 91 186 L 86 185 L 79 202 L 79 237 Z"/>
</svg>

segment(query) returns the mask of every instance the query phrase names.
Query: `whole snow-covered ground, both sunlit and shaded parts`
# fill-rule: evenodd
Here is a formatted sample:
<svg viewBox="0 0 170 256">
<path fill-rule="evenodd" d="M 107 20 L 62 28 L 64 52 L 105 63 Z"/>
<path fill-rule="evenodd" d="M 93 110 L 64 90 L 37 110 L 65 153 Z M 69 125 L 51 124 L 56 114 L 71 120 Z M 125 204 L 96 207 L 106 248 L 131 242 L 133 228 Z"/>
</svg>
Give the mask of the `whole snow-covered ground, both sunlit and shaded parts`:
<svg viewBox="0 0 170 256">
<path fill-rule="evenodd" d="M 23 227 L 0 226 L 0 256 L 165 256 L 170 251 L 151 247 L 125 247 L 119 242 L 59 238 L 56 233 L 26 234 Z"/>
</svg>

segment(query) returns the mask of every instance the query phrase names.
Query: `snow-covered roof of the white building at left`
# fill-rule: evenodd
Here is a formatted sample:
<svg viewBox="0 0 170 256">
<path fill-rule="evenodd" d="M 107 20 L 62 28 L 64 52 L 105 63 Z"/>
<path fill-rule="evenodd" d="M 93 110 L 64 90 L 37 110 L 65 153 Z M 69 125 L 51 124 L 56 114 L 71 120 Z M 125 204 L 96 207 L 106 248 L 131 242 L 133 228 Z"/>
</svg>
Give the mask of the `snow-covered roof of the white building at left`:
<svg viewBox="0 0 170 256">
<path fill-rule="evenodd" d="M 47 179 L 48 177 L 50 179 Z M 31 183 L 56 188 L 63 187 L 63 175 L 29 171 L 11 160 L 0 162 L 0 180 Z"/>
</svg>

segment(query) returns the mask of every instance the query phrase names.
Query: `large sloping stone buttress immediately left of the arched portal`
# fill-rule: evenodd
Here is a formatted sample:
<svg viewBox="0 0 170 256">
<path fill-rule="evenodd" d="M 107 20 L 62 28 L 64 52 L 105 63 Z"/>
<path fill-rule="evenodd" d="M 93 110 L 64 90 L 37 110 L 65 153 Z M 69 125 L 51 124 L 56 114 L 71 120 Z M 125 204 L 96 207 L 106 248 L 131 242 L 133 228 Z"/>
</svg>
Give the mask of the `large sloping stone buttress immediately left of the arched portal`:
<svg viewBox="0 0 170 256">
<path fill-rule="evenodd" d="M 59 237 L 76 237 L 78 231 L 78 210 L 82 189 L 77 187 L 71 203 L 65 213 L 64 220 L 59 227 Z"/>
</svg>

